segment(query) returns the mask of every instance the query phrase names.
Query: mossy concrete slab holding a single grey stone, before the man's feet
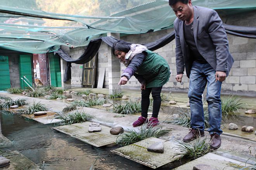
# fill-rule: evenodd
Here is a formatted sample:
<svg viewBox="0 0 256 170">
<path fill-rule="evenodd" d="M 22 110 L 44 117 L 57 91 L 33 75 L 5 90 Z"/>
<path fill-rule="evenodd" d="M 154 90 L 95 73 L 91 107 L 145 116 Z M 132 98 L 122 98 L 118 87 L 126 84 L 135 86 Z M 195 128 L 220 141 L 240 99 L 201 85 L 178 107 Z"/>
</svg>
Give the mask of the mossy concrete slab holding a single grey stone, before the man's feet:
<svg viewBox="0 0 256 170">
<path fill-rule="evenodd" d="M 147 138 L 137 143 L 111 150 L 111 152 L 153 169 L 166 165 L 167 163 L 173 162 L 182 157 L 181 155 L 175 156 L 179 151 L 174 149 L 174 147 L 176 147 L 176 143 L 173 143 L 173 141 L 164 142 L 164 153 L 147 151 L 147 147 L 156 142 L 164 142 L 164 140 L 158 138 Z"/>
</svg>

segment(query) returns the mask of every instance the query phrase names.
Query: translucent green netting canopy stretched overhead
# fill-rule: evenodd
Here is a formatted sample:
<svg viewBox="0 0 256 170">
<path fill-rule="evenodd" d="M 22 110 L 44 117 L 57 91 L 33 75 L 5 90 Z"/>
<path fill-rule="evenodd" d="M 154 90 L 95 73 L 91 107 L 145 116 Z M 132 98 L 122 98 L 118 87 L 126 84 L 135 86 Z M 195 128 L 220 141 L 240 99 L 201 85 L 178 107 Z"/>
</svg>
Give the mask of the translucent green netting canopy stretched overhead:
<svg viewBox="0 0 256 170">
<path fill-rule="evenodd" d="M 192 4 L 225 15 L 256 9 L 256 0 L 192 0 Z M 176 18 L 168 0 L 1 0 L 0 14 L 0 48 L 27 53 L 57 51 L 61 45 L 86 46 L 107 32 L 168 29 Z"/>
</svg>

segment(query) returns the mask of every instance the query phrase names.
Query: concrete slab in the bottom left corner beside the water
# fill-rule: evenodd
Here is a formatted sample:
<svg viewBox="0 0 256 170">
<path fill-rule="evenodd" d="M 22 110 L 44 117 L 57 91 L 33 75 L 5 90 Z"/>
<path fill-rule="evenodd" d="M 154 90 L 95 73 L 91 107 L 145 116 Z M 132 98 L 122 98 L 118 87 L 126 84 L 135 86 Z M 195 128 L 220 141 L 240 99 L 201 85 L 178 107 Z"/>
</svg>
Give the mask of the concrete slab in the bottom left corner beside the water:
<svg viewBox="0 0 256 170">
<path fill-rule="evenodd" d="M 3 157 L 10 160 L 10 165 L 3 169 L 8 170 L 40 170 L 39 166 L 29 160 L 26 156 L 22 155 L 18 151 L 2 151 L 0 153 Z"/>
</svg>

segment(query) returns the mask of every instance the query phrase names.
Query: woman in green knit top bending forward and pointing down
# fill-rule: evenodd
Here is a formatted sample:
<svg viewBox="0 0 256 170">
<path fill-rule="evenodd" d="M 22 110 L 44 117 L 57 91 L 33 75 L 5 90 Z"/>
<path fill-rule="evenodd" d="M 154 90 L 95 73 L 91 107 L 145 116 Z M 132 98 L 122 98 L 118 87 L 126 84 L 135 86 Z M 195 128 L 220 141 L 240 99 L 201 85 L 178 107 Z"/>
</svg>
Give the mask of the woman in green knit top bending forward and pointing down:
<svg viewBox="0 0 256 170">
<path fill-rule="evenodd" d="M 133 127 L 147 122 L 150 93 L 153 97 L 153 111 L 152 117 L 149 119 L 149 125 L 156 126 L 159 124 L 157 117 L 161 106 L 161 90 L 170 77 L 170 68 L 167 61 L 143 45 L 131 44 L 122 40 L 113 44 L 112 53 L 127 67 L 123 71 L 118 85 L 125 85 L 133 75 L 141 84 L 142 113 L 138 120 L 133 122 Z"/>
</svg>

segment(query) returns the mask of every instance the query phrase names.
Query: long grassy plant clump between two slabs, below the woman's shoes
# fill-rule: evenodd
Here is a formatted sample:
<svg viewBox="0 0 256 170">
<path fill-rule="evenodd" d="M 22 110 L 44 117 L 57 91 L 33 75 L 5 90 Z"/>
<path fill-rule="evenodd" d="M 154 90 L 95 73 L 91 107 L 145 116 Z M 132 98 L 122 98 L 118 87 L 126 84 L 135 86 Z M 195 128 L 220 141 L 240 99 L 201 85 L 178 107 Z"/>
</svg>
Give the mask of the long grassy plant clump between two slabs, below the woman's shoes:
<svg viewBox="0 0 256 170">
<path fill-rule="evenodd" d="M 136 131 L 135 129 L 129 129 L 127 133 L 119 134 L 116 139 L 116 144 L 119 144 L 121 146 L 126 146 L 147 138 L 151 138 L 151 137 L 158 138 L 160 136 L 163 136 L 164 134 L 167 134 L 169 131 L 171 130 L 162 129 L 162 127 L 159 127 L 159 126 L 152 127 L 152 126 L 149 126 L 148 123 L 146 123 L 140 126 L 139 131 Z"/>
</svg>

